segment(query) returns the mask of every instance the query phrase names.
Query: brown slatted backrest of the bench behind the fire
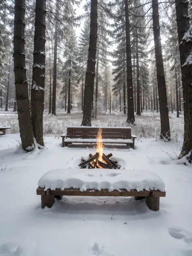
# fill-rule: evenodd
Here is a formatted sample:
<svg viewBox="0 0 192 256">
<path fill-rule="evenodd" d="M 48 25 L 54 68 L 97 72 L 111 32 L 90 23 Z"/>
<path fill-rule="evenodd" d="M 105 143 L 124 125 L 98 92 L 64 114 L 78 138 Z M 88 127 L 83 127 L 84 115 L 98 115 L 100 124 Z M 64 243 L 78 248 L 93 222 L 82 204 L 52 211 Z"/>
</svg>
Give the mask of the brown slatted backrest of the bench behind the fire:
<svg viewBox="0 0 192 256">
<path fill-rule="evenodd" d="M 72 139 L 95 139 L 99 128 L 102 128 L 103 139 L 131 139 L 130 127 L 70 126 L 67 128 L 67 137 Z"/>
</svg>

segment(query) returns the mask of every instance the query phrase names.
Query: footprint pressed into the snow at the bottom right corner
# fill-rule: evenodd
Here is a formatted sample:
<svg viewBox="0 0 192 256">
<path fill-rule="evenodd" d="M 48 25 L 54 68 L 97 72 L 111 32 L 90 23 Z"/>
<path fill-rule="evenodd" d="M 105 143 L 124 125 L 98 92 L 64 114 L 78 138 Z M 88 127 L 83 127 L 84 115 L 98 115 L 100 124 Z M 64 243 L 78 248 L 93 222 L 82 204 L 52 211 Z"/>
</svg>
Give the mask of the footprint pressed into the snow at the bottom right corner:
<svg viewBox="0 0 192 256">
<path fill-rule="evenodd" d="M 174 237 L 176 239 L 183 239 L 185 243 L 188 243 L 188 245 L 192 245 L 192 233 L 189 231 L 179 228 L 179 227 L 173 227 L 168 228 L 169 235 L 171 237 Z"/>
</svg>

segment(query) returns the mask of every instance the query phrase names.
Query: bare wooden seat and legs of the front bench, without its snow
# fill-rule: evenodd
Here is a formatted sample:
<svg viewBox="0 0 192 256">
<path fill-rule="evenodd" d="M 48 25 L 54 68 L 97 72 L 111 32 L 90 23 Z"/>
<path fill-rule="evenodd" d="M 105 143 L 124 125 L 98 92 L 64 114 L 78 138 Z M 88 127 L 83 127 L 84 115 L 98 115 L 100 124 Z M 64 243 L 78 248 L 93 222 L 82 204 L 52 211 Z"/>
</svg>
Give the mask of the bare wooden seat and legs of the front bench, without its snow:
<svg viewBox="0 0 192 256">
<path fill-rule="evenodd" d="M 125 189 L 121 190 L 114 190 L 109 192 L 109 190 L 86 190 L 84 192 L 81 192 L 79 189 L 55 189 L 55 190 L 46 190 L 44 188 L 38 187 L 36 190 L 37 195 L 41 195 L 41 208 L 45 208 L 47 206 L 48 208 L 51 208 L 55 198 L 58 200 L 62 199 L 62 196 L 134 196 L 135 200 L 140 200 L 145 198 L 145 201 L 147 203 L 147 206 L 149 209 L 153 211 L 159 210 L 160 205 L 160 197 L 165 197 L 166 192 L 161 192 L 159 190 L 150 190 L 150 191 L 137 191 L 137 190 L 131 190 L 127 191 Z"/>
</svg>

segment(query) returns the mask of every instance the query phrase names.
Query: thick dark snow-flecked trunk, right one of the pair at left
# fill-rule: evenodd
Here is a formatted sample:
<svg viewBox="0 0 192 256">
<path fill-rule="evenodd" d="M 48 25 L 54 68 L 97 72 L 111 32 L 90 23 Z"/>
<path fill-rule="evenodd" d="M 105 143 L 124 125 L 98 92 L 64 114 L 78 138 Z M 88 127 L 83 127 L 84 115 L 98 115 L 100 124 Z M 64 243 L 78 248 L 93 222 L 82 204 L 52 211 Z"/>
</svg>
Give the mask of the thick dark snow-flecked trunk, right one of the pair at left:
<svg viewBox="0 0 192 256">
<path fill-rule="evenodd" d="M 36 142 L 43 143 L 43 109 L 45 95 L 45 15 L 46 0 L 36 0 L 31 88 L 31 120 Z"/>
</svg>

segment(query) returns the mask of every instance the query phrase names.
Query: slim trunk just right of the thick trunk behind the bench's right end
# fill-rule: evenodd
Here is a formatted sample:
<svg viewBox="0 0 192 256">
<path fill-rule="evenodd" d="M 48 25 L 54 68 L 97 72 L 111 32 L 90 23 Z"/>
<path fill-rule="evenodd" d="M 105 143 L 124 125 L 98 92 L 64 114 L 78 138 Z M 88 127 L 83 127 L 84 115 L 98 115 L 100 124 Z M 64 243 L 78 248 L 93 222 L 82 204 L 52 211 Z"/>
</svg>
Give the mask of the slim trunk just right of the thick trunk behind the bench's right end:
<svg viewBox="0 0 192 256">
<path fill-rule="evenodd" d="M 137 35 L 137 30 L 136 30 Z M 140 109 L 140 80 L 139 80 L 139 52 L 138 52 L 138 36 L 135 37 L 136 39 L 136 73 L 137 73 L 137 113 L 136 115 L 141 115 Z"/>
</svg>

